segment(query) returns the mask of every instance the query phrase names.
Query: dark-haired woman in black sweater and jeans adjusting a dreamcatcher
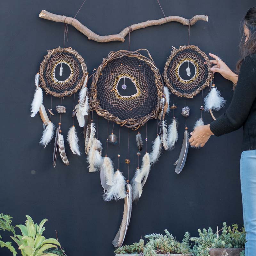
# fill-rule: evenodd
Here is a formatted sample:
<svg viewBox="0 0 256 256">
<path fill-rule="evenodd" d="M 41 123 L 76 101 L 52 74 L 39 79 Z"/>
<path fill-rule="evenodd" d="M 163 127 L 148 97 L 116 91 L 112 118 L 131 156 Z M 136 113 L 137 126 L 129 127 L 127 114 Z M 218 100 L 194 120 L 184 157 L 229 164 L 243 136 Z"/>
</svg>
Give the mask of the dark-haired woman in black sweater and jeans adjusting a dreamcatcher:
<svg viewBox="0 0 256 256">
<path fill-rule="evenodd" d="M 242 20 L 241 60 L 237 62 L 237 76 L 219 57 L 209 54 L 214 66 L 211 70 L 233 82 L 235 92 L 225 114 L 211 124 L 191 132 L 192 146 L 203 147 L 211 135 L 220 136 L 244 128 L 240 178 L 246 230 L 245 256 L 256 255 L 256 6 Z"/>
</svg>

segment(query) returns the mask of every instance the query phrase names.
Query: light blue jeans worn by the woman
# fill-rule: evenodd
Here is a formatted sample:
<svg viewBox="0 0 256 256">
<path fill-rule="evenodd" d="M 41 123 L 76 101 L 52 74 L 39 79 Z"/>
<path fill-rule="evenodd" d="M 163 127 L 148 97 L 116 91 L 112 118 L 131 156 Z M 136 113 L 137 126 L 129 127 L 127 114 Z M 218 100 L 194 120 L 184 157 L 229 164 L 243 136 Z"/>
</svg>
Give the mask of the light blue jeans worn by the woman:
<svg viewBox="0 0 256 256">
<path fill-rule="evenodd" d="M 247 241 L 245 256 L 254 256 L 256 255 L 256 150 L 242 152 L 240 178 Z"/>
</svg>

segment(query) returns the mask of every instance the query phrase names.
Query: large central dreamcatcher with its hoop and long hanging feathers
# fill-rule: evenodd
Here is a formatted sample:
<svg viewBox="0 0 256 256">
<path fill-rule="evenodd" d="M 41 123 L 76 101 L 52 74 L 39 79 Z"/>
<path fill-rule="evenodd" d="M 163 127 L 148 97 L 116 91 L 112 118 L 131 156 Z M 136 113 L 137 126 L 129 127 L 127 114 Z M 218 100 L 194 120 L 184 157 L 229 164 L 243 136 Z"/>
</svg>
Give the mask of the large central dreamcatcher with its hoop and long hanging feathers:
<svg viewBox="0 0 256 256">
<path fill-rule="evenodd" d="M 145 50 L 149 58 L 141 55 L 139 51 Z M 119 136 L 114 134 L 114 124 L 111 134 L 106 136 L 106 150 L 108 144 L 117 144 L 118 162 L 116 171 L 114 163 L 108 157 L 102 157 L 102 144 L 95 138 L 95 124 L 88 124 L 85 136 L 85 152 L 88 154 L 89 172 L 100 171 L 100 181 L 104 189 L 103 198 L 105 201 L 124 199 L 124 215 L 120 229 L 112 244 L 121 246 L 128 229 L 131 218 L 132 202 L 138 201 L 142 188 L 146 183 L 151 164 L 155 163 L 162 150 L 160 136 L 157 134 L 151 152 L 147 152 L 147 128 L 146 139 L 143 145 L 140 127 L 146 124 L 149 119 L 164 118 L 165 97 L 163 94 L 163 82 L 156 65 L 148 50 L 140 49 L 135 52 L 118 51 L 110 52 L 107 58 L 103 59 L 95 71 L 90 88 L 90 108 L 95 110 L 98 116 L 103 116 L 109 121 L 119 125 Z M 164 103 L 164 105 L 163 105 Z M 119 169 L 119 148 L 120 148 L 120 127 L 125 126 L 128 130 L 128 153 L 125 159 L 127 169 L 126 180 Z M 129 180 L 129 138 L 130 128 L 137 130 L 136 142 L 138 152 L 138 167 L 134 177 Z M 107 131 L 109 130 L 106 129 Z M 145 149 L 141 167 L 140 155 Z"/>
</svg>

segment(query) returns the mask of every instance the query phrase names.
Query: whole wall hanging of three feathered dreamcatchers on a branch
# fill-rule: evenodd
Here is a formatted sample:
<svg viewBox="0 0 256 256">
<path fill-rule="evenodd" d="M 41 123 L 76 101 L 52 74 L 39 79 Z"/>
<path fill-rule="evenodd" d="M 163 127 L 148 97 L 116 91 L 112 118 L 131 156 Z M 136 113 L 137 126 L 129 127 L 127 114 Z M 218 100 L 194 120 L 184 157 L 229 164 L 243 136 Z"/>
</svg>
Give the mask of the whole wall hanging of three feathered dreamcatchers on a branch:
<svg viewBox="0 0 256 256">
<path fill-rule="evenodd" d="M 45 12 L 44 16 L 47 16 Z M 205 17 L 202 16 L 195 19 L 208 20 Z M 56 21 L 57 18 L 55 17 L 53 20 Z M 64 23 L 71 22 L 72 24 L 74 21 L 74 18 L 65 16 L 64 18 L 65 20 L 62 21 Z M 193 19 L 184 24 L 190 26 Z M 161 21 L 162 23 L 168 22 L 167 19 L 163 20 Z M 178 21 L 181 22 L 180 20 Z M 143 28 L 146 24 L 144 26 L 142 22 L 127 28 L 129 38 L 132 28 L 136 27 L 138 29 L 140 26 Z M 67 33 L 66 24 L 64 45 L 65 33 Z M 112 36 L 115 37 L 116 35 Z M 97 40 L 100 41 L 101 39 Z M 95 41 L 97 40 L 95 39 Z M 111 40 L 109 39 L 109 41 Z M 104 37 L 100 42 L 107 42 L 107 40 Z M 142 55 L 142 51 L 145 51 L 148 57 Z M 187 45 L 180 46 L 179 49 L 173 48 L 164 67 L 164 86 L 159 70 L 148 50 L 139 49 L 134 52 L 121 50 L 110 52 L 103 59 L 100 66 L 92 75 L 90 89 L 87 89 L 87 67 L 83 58 L 75 50 L 63 46 L 63 48 L 59 47 L 48 51 L 48 54 L 44 56 L 39 72 L 35 76 L 36 91 L 31 104 L 31 116 L 34 117 L 39 112 L 44 125 L 43 134 L 39 143 L 46 147 L 55 135 L 52 164 L 54 167 L 56 166 L 57 157 L 60 155 L 62 162 L 69 165 L 65 150 L 65 139 L 61 131 L 63 125 L 61 123 L 61 115 L 67 111 L 66 107 L 62 105 L 62 100 L 66 96 L 74 95 L 73 109 L 72 112 L 70 111 L 73 124 L 69 128 L 66 139 L 69 148 L 73 154 L 81 155 L 75 128 L 76 118 L 78 125 L 84 129 L 84 152 L 86 154 L 89 172 L 100 172 L 103 199 L 105 201 L 124 199 L 123 219 L 112 241 L 115 247 L 121 246 L 124 242 L 130 223 L 132 203 L 138 202 L 141 197 L 151 165 L 158 161 L 163 149 L 173 149 L 178 140 L 178 122 L 174 116 L 177 107 L 174 104 L 174 95 L 185 97 L 186 99 L 185 107 L 181 110 L 181 114 L 185 116 L 185 132 L 180 156 L 174 163 L 176 165 L 176 173 L 182 171 L 189 148 L 187 117 L 189 116 L 190 109 L 187 106 L 187 98 L 193 98 L 205 87 L 210 86 L 210 92 L 204 99 L 204 107 L 202 94 L 202 103 L 199 108 L 201 114 L 200 118 L 196 120 L 195 127 L 204 124 L 202 118 L 203 110 L 211 111 L 212 114 L 212 110 L 219 110 L 223 106 L 224 99 L 220 97 L 220 92 L 214 83 L 212 83 L 214 80 L 210 68 L 211 63 L 208 57 L 198 47 Z M 48 106 L 48 113 L 43 105 L 42 89 L 44 89 L 46 95 L 57 97 L 60 101 L 60 105 L 57 105 L 55 110 L 53 110 L 52 99 L 51 106 Z M 169 90 L 173 93 L 172 104 Z M 79 100 L 75 105 L 75 94 L 78 91 Z M 173 118 L 171 124 L 167 124 L 166 116 L 169 115 L 171 110 L 173 112 Z M 55 130 L 51 116 L 57 115 L 56 112 L 59 114 L 59 123 L 56 125 L 57 129 Z M 108 120 L 108 127 L 105 134 L 105 156 L 102 156 L 102 143 L 98 135 L 96 135 L 93 112 Z M 158 125 L 152 149 L 148 150 L 147 122 L 150 119 L 155 119 Z M 111 132 L 109 132 L 111 130 L 109 129 L 109 122 L 113 122 Z M 114 123 L 119 125 L 118 135 L 114 133 Z M 144 125 L 146 126 L 145 136 L 140 133 L 140 128 Z M 127 127 L 128 129 L 127 158 L 125 158 L 125 164 L 122 166 L 120 164 L 121 161 L 119 161 L 120 157 L 123 158 L 119 152 L 121 126 Z M 132 160 L 137 156 L 138 166 L 130 181 L 129 143 L 131 129 L 137 131 L 133 143 L 137 144 L 138 151 L 132 155 Z M 108 156 L 109 143 L 116 145 L 117 163 L 114 163 Z M 141 164 L 140 157 L 142 157 Z M 126 179 L 125 176 L 128 178 Z"/>
</svg>

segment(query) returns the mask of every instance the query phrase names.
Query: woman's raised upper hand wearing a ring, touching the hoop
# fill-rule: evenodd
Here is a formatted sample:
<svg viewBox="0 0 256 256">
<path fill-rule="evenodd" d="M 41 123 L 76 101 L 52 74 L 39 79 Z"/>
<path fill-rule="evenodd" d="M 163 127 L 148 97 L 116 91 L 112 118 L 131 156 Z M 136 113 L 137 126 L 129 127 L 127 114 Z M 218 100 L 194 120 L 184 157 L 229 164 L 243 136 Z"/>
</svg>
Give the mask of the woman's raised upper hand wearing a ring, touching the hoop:
<svg viewBox="0 0 256 256">
<path fill-rule="evenodd" d="M 209 55 L 215 60 L 210 60 L 214 66 L 212 66 L 211 70 L 213 73 L 220 73 L 221 76 L 230 80 L 233 84 L 237 83 L 238 76 L 226 65 L 226 63 L 222 60 L 218 60 L 219 57 L 209 53 Z M 204 62 L 206 64 L 206 62 Z"/>
</svg>

